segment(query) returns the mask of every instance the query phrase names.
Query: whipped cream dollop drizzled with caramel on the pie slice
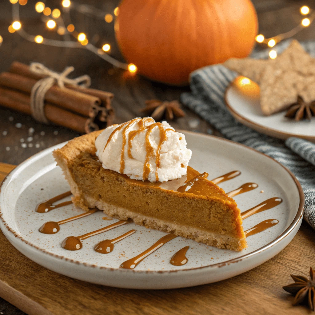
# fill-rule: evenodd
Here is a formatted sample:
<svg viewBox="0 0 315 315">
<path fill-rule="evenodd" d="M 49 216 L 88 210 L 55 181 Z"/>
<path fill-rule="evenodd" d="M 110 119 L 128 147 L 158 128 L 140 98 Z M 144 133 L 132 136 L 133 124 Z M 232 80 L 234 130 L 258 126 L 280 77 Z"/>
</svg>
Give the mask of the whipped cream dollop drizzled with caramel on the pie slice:
<svg viewBox="0 0 315 315">
<path fill-rule="evenodd" d="M 152 182 L 186 175 L 192 156 L 186 145 L 185 135 L 151 117 L 109 126 L 95 140 L 96 155 L 105 169 Z"/>
</svg>

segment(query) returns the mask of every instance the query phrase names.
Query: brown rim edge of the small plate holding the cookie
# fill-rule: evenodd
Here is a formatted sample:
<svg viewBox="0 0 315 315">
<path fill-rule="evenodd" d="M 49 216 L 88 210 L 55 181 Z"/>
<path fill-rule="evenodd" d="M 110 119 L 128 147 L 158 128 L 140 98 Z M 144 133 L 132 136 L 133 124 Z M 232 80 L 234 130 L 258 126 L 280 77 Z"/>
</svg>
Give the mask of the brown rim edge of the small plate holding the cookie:
<svg viewBox="0 0 315 315">
<path fill-rule="evenodd" d="M 297 137 L 297 138 L 302 138 L 302 139 L 305 139 L 308 141 L 315 142 L 315 136 L 291 134 L 289 132 L 283 132 L 283 131 L 280 131 L 278 129 L 269 128 L 269 127 L 266 127 L 266 126 L 261 125 L 259 123 L 256 123 L 255 121 L 250 120 L 250 119 L 242 116 L 240 113 L 236 112 L 235 109 L 233 108 L 233 106 L 227 100 L 227 94 L 229 93 L 230 89 L 233 87 L 233 82 L 234 81 L 232 81 L 230 83 L 230 85 L 226 88 L 226 90 L 224 92 L 224 101 L 225 101 L 226 107 L 229 110 L 229 112 L 240 123 L 242 123 L 243 125 L 245 125 L 249 128 L 252 128 L 258 132 L 261 132 L 265 135 L 271 136 L 271 137 L 276 137 L 276 138 L 283 139 L 283 140 L 288 139 L 289 137 Z"/>
</svg>

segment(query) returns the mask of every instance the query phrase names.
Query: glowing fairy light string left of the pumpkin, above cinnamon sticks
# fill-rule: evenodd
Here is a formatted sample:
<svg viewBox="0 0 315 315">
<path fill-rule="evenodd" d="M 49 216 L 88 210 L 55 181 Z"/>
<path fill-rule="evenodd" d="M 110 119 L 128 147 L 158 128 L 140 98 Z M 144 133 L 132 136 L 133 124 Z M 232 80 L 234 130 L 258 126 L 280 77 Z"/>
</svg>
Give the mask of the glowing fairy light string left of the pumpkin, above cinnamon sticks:
<svg viewBox="0 0 315 315">
<path fill-rule="evenodd" d="M 65 25 L 65 20 L 70 20 L 70 9 L 76 10 L 82 14 L 92 15 L 96 18 L 102 18 L 107 23 L 114 21 L 114 18 L 119 14 L 119 8 L 116 7 L 113 10 L 113 14 L 102 12 L 87 4 L 79 4 L 75 1 L 62 0 L 61 10 L 58 8 L 51 9 L 45 5 L 45 3 L 39 1 L 35 4 L 35 10 L 37 13 L 42 14 L 41 18 L 45 22 L 48 30 L 56 31 L 60 36 L 63 36 L 63 40 L 55 40 L 44 38 L 42 35 L 31 35 L 28 34 L 22 26 L 20 21 L 20 6 L 26 5 L 27 0 L 9 0 L 12 3 L 12 18 L 13 22 L 9 26 L 8 30 L 10 33 L 17 32 L 21 37 L 25 38 L 30 42 L 35 42 L 37 44 L 44 44 L 56 47 L 68 47 L 68 48 L 84 48 L 97 54 L 102 59 L 111 63 L 117 68 L 128 70 L 130 73 L 137 72 L 137 66 L 132 63 L 124 63 L 115 58 L 113 58 L 109 53 L 111 50 L 111 45 L 109 43 L 104 43 L 102 47 L 96 47 L 89 42 L 87 35 L 83 32 L 78 33 L 75 26 L 70 23 Z M 66 17 L 66 19 L 64 19 Z M 76 39 L 76 41 L 71 40 L 71 36 Z M 3 37 L 0 35 L 0 45 L 3 42 Z"/>
</svg>

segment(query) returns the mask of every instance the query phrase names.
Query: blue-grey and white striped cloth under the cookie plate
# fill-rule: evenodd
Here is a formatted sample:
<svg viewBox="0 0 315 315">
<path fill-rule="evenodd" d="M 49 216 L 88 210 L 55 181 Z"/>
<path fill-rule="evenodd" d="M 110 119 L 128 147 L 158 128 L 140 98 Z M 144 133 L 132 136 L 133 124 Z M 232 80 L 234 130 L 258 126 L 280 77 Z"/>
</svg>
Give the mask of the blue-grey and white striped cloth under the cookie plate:
<svg viewBox="0 0 315 315">
<path fill-rule="evenodd" d="M 278 52 L 288 46 L 281 43 Z M 315 42 L 303 44 L 315 54 Z M 266 58 L 268 51 L 252 55 L 253 58 Z M 263 152 L 282 163 L 300 181 L 305 194 L 304 219 L 315 229 L 315 145 L 309 141 L 289 138 L 286 142 L 254 131 L 236 121 L 226 109 L 224 92 L 237 76 L 222 65 L 207 66 L 190 75 L 191 93 L 183 93 L 181 101 L 198 113 L 227 139 L 240 142 Z M 314 125 L 315 128 L 315 125 Z"/>
</svg>

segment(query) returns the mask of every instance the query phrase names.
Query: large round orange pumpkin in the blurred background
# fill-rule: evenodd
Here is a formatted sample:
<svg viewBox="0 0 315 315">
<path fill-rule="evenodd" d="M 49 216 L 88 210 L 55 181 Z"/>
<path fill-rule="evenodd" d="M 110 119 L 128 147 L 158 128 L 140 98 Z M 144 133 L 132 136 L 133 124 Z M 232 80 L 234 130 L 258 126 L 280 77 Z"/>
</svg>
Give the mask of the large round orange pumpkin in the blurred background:
<svg viewBox="0 0 315 315">
<path fill-rule="evenodd" d="M 248 56 L 257 15 L 250 0 L 123 0 L 115 31 L 139 73 L 184 85 L 195 69 Z"/>
</svg>

